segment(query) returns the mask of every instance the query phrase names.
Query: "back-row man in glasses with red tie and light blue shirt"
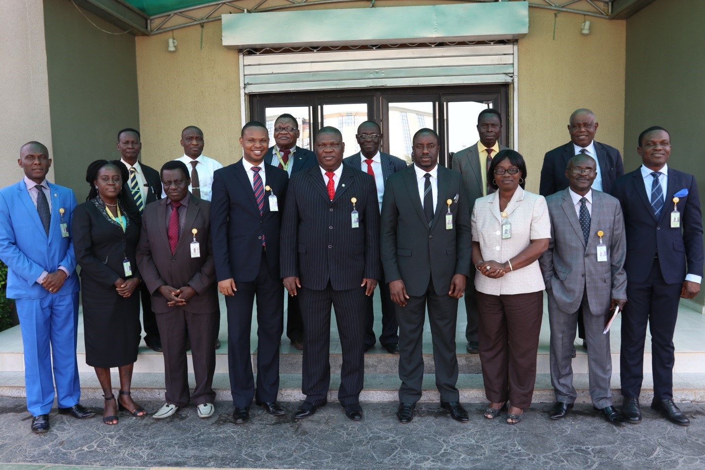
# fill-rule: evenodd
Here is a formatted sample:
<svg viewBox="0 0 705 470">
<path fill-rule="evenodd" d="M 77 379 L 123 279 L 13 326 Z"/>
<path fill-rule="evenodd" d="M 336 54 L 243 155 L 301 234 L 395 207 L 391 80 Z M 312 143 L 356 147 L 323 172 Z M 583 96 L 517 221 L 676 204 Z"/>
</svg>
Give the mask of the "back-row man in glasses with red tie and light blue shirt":
<svg viewBox="0 0 705 470">
<path fill-rule="evenodd" d="M 382 131 L 379 124 L 374 121 L 364 121 L 357 128 L 355 135 L 357 143 L 360 145 L 360 152 L 350 157 L 343 158 L 343 164 L 350 165 L 354 169 L 362 170 L 374 178 L 374 185 L 377 188 L 377 200 L 379 208 L 382 207 L 382 195 L 384 195 L 384 185 L 389 178 L 397 171 L 406 168 L 403 159 L 380 152 L 382 143 Z M 374 293 L 373 293 L 374 294 Z M 384 270 L 380 267 L 379 294 L 382 301 L 382 334 L 379 336 L 379 344 L 390 354 L 399 354 L 399 335 L 396 315 L 394 313 L 394 303 L 389 294 L 389 286 L 384 282 Z M 372 296 L 365 299 L 364 317 L 364 350 L 368 351 L 374 346 L 374 308 L 372 306 Z"/>
</svg>

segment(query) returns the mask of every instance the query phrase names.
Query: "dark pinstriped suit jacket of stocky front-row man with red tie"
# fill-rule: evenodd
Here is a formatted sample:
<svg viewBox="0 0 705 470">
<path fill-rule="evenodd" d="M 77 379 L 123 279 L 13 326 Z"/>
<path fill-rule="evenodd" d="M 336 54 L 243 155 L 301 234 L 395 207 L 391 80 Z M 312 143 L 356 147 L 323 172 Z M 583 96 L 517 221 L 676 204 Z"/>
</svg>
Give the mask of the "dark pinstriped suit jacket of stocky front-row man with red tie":
<svg viewBox="0 0 705 470">
<path fill-rule="evenodd" d="M 351 198 L 360 227 L 352 228 Z M 363 278 L 379 279 L 379 204 L 374 179 L 343 165 L 331 201 L 321 168 L 291 176 L 281 227 L 281 277 L 298 276 L 302 287 L 349 290 Z"/>
</svg>

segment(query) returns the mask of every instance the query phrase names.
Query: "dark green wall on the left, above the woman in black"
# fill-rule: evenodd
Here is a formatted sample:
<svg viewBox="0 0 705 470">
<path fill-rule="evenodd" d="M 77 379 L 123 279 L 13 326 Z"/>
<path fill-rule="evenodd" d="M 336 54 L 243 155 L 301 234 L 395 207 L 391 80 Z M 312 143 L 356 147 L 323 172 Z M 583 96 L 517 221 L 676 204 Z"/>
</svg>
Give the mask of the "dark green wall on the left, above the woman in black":
<svg viewBox="0 0 705 470">
<path fill-rule="evenodd" d="M 44 19 L 54 179 L 81 203 L 88 164 L 119 158 L 117 131 L 140 128 L 135 37 L 66 0 L 44 0 Z"/>
</svg>

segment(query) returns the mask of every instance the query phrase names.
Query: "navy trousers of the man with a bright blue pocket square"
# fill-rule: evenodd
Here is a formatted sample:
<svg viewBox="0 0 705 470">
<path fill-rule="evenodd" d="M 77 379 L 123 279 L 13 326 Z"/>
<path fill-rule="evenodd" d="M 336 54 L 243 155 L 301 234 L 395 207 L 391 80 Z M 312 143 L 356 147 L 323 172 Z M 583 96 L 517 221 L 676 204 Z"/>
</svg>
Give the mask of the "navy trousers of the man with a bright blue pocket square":
<svg viewBox="0 0 705 470">
<path fill-rule="evenodd" d="M 673 332 L 678 318 L 682 284 L 666 284 L 658 258 L 644 282 L 627 282 L 622 315 L 620 379 L 625 397 L 639 397 L 644 379 L 646 323 L 651 332 L 651 368 L 654 399 L 673 399 Z M 590 344 L 588 343 L 588 347 Z"/>
</svg>

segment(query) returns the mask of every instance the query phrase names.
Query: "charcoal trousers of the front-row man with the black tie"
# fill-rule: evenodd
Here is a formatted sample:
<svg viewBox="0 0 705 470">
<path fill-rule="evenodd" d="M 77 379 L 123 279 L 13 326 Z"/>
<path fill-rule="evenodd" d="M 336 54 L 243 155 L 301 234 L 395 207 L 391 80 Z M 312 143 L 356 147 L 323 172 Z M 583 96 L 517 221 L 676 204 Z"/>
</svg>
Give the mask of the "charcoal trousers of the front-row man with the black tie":
<svg viewBox="0 0 705 470">
<path fill-rule="evenodd" d="M 455 325 L 458 323 L 458 299 L 436 294 L 429 282 L 426 294 L 410 296 L 405 307 L 396 306 L 399 323 L 399 401 L 416 403 L 421 398 L 424 380 L 423 335 L 426 307 L 429 308 L 431 341 L 434 347 L 436 388 L 442 402 L 458 402 L 458 356 L 455 356 Z"/>
</svg>

